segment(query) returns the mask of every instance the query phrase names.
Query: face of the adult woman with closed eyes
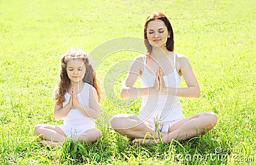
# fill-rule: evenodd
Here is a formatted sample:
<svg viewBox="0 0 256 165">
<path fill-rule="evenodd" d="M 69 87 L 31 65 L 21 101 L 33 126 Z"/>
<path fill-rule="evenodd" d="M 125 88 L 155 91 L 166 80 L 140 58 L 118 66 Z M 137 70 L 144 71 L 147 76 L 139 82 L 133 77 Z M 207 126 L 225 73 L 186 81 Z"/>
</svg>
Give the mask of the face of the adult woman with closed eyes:
<svg viewBox="0 0 256 165">
<path fill-rule="evenodd" d="M 170 37 L 163 20 L 151 20 L 147 25 L 147 37 L 152 47 L 164 47 Z"/>
</svg>

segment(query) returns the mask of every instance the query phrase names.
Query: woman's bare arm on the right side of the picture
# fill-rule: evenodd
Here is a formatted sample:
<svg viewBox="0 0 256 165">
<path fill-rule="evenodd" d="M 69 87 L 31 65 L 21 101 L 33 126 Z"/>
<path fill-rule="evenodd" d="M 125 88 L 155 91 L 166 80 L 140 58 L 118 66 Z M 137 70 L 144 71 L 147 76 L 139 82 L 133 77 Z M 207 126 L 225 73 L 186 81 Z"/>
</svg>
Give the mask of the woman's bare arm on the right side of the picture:
<svg viewBox="0 0 256 165">
<path fill-rule="evenodd" d="M 173 88 L 173 87 L 165 87 L 163 83 L 163 71 L 159 71 L 159 83 L 160 89 L 162 92 L 168 92 L 169 94 L 180 96 L 180 97 L 200 97 L 200 87 L 196 80 L 196 77 L 193 73 L 191 65 L 188 59 L 182 55 L 177 58 L 176 61 L 177 68 L 181 75 L 183 75 L 184 80 L 188 87 L 184 88 Z M 175 68 L 176 69 L 176 68 Z"/>
</svg>

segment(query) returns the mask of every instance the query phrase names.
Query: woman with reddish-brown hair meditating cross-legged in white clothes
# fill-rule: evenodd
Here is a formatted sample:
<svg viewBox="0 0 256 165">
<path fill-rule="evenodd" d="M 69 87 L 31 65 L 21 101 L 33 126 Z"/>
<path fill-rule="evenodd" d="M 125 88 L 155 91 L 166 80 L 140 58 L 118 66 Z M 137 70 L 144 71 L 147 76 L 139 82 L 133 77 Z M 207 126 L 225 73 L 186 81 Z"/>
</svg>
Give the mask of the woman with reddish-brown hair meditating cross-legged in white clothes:
<svg viewBox="0 0 256 165">
<path fill-rule="evenodd" d="M 182 115 L 179 97 L 200 97 L 200 88 L 188 59 L 173 52 L 173 30 L 168 18 L 155 12 L 144 26 L 146 55 L 138 55 L 131 64 L 121 97 L 143 97 L 138 116 L 118 114 L 111 118 L 116 132 L 135 138 L 132 143 L 159 143 L 161 138 L 185 140 L 204 134 L 216 125 L 212 112 L 191 117 Z M 140 75 L 141 88 L 133 87 Z M 181 76 L 188 87 L 180 88 Z"/>
</svg>

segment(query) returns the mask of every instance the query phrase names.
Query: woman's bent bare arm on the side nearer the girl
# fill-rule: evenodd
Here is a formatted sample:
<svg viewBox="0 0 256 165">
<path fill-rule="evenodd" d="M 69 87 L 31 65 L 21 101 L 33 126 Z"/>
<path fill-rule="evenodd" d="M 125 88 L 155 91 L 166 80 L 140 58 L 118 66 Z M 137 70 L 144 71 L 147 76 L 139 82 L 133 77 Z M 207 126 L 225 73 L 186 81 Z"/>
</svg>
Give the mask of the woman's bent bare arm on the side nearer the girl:
<svg viewBox="0 0 256 165">
<path fill-rule="evenodd" d="M 144 64 L 142 55 L 136 57 L 136 59 L 132 61 L 129 73 L 126 76 L 121 89 L 122 98 L 147 96 L 148 94 L 152 94 L 159 91 L 158 83 L 155 83 L 154 87 L 136 88 L 132 86 L 136 82 L 138 76 L 141 74 L 141 68 L 143 67 Z"/>
</svg>

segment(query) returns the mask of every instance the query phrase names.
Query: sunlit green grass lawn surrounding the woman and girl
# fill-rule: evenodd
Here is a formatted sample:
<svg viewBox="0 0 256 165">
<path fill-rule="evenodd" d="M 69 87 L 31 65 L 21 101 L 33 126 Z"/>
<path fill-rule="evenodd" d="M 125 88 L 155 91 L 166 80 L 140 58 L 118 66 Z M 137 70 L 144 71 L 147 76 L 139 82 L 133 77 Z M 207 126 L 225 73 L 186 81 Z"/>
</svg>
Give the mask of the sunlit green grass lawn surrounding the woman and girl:
<svg viewBox="0 0 256 165">
<path fill-rule="evenodd" d="M 170 18 L 175 52 L 188 57 L 200 83 L 200 99 L 180 98 L 184 115 L 214 111 L 216 127 L 170 145 L 130 145 L 131 140 L 108 127 L 108 119 L 116 113 L 138 113 L 140 99 L 120 103 L 125 75 L 112 74 L 115 84 L 104 90 L 116 96 L 100 103 L 97 125 L 104 138 L 93 144 L 41 147 L 33 135 L 35 124 L 61 124 L 52 115 L 61 55 L 70 47 L 90 53 L 111 39 L 143 38 L 143 24 L 152 11 Z M 255 164 L 255 23 L 256 3 L 249 0 L 1 0 L 0 164 Z M 138 54 L 127 50 L 106 57 L 97 68 L 102 88 L 113 66 Z M 202 155 L 199 162 L 193 159 L 196 155 Z"/>
</svg>

